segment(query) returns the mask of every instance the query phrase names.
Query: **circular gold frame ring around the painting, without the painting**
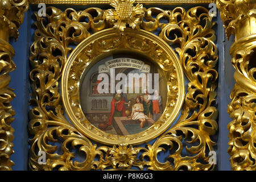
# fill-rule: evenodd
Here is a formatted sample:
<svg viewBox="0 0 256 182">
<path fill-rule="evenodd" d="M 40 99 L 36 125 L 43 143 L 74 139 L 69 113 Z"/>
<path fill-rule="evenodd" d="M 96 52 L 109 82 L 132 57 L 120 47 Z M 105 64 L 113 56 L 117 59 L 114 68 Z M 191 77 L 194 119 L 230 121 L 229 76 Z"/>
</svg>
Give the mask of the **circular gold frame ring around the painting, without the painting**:
<svg viewBox="0 0 256 182">
<path fill-rule="evenodd" d="M 167 85 L 167 103 L 162 116 L 147 130 L 133 135 L 113 135 L 97 129 L 86 119 L 80 105 L 80 80 L 84 72 L 103 53 L 118 49 L 137 51 L 152 58 L 164 72 Z M 109 28 L 86 38 L 71 53 L 61 80 L 63 104 L 73 125 L 86 137 L 104 144 L 140 144 L 158 137 L 171 126 L 183 105 L 184 75 L 181 64 L 171 47 L 150 32 L 126 28 L 117 32 Z"/>
</svg>

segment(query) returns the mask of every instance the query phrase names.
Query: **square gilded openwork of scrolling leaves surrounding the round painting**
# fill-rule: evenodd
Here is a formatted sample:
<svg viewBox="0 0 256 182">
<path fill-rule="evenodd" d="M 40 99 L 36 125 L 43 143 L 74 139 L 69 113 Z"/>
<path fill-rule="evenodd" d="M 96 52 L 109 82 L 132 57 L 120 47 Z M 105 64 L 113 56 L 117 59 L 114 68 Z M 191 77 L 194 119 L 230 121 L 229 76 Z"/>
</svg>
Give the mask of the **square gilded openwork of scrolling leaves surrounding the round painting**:
<svg viewBox="0 0 256 182">
<path fill-rule="evenodd" d="M 35 42 L 30 48 L 32 91 L 28 127 L 32 134 L 29 157 L 31 169 L 104 170 L 133 167 L 132 169 L 140 170 L 210 170 L 214 168 L 214 163 L 209 162 L 209 151 L 214 151 L 213 146 L 216 144 L 210 136 L 217 131 L 215 89 L 218 77 L 216 71 L 218 52 L 214 44 L 216 37 L 212 30 L 214 26 L 212 17 L 204 7 L 193 7 L 187 12 L 182 7 L 176 7 L 174 10 L 162 10 L 157 7 L 142 9 L 142 5 L 133 5 L 133 2 L 111 1 L 115 8 L 112 10 L 90 7 L 78 12 L 73 9 L 63 12 L 56 7 L 48 7 L 45 18 L 35 13 Z M 167 21 L 163 23 L 163 19 Z M 127 24 L 131 28 L 126 27 Z M 119 31 L 113 31 L 113 27 Z M 105 30 L 107 28 L 109 29 Z M 159 29 L 160 32 L 157 32 Z M 84 127 L 88 131 L 95 131 L 94 134 L 102 141 L 124 138 L 120 143 L 107 143 L 106 146 L 102 144 L 104 142 L 92 142 L 80 132 L 80 128 L 76 128 L 65 118 L 64 111 L 67 107 L 73 110 L 80 109 L 80 101 L 75 97 L 79 92 L 78 74 L 83 70 L 80 68 L 90 64 L 90 59 L 96 53 L 108 52 L 123 44 L 154 54 L 155 59 L 160 61 L 166 71 L 175 70 L 171 60 L 161 59 L 166 55 L 157 44 L 148 42 L 146 38 L 140 38 L 141 40 L 137 42 L 133 37 L 126 35 L 135 33 L 140 35 L 138 30 L 142 31 L 143 35 L 150 34 L 154 37 L 155 35 L 150 32 L 155 32 L 159 36 L 158 39 L 164 40 L 164 45 L 175 47 L 180 67 L 183 68 L 189 81 L 183 111 L 166 133 L 159 134 L 159 137 L 150 143 L 146 143 L 148 140 L 144 141 L 145 143 L 140 146 L 132 144 L 133 140 L 129 135 L 127 139 L 123 136 L 109 135 L 94 130 L 92 125 L 84 122 Z M 116 33 L 118 36 L 112 41 L 99 42 L 101 31 L 105 34 L 110 32 L 110 36 Z M 91 35 L 94 32 L 96 32 L 95 36 Z M 72 106 L 64 109 L 60 81 L 62 89 L 64 84 L 61 77 L 65 78 L 63 75 L 67 75 L 64 70 L 69 66 L 66 64 L 69 63 L 69 53 L 72 52 L 71 56 L 75 55 L 71 45 L 81 45 L 82 41 L 92 39 L 90 36 L 97 39 L 86 44 L 82 49 L 84 57 L 75 59 L 74 65 L 77 69 L 72 68 L 73 74 L 67 77 L 71 81 L 65 88 L 68 90 L 67 93 L 70 93 L 66 96 Z M 126 38 L 129 38 L 126 42 L 118 41 Z M 151 51 L 151 46 L 154 51 Z M 167 87 L 168 93 L 171 93 L 168 98 L 173 98 L 174 102 L 171 100 L 168 102 L 162 120 L 159 119 L 161 120 L 158 122 L 159 125 L 153 125 L 150 131 L 157 131 L 170 117 L 171 112 L 167 110 L 175 107 L 175 99 L 181 88 L 176 82 L 177 74 L 172 73 L 167 77 Z M 74 113 L 73 117 L 81 118 L 80 121 L 84 119 L 82 113 L 76 111 Z M 147 137 L 147 135 L 148 133 L 144 133 L 143 136 L 138 136 Z M 184 150 L 187 154 L 184 154 Z M 39 151 L 46 152 L 46 164 L 38 163 Z M 75 160 L 77 152 L 84 154 L 84 160 L 80 162 Z M 164 162 L 158 159 L 160 153 L 167 155 Z"/>
</svg>

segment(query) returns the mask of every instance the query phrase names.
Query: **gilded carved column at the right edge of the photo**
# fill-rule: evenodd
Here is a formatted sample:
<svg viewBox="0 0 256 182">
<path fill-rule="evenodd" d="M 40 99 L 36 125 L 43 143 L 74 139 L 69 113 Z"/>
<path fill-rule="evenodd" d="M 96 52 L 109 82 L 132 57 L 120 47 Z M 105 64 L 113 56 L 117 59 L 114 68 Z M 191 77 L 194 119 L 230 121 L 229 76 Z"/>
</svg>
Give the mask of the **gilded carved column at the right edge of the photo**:
<svg viewBox="0 0 256 182">
<path fill-rule="evenodd" d="M 256 1 L 217 0 L 230 48 L 236 85 L 228 113 L 230 163 L 233 170 L 256 170 Z"/>
</svg>

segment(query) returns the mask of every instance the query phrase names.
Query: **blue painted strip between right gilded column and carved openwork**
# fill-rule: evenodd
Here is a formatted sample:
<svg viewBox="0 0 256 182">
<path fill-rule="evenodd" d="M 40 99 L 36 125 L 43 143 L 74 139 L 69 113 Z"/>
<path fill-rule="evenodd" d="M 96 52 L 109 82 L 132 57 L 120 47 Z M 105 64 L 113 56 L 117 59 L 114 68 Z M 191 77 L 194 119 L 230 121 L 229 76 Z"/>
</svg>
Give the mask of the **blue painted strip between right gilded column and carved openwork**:
<svg viewBox="0 0 256 182">
<path fill-rule="evenodd" d="M 232 170 L 230 166 L 230 155 L 228 154 L 228 123 L 232 121 L 227 112 L 228 104 L 230 103 L 229 94 L 234 86 L 234 68 L 231 64 L 232 57 L 229 54 L 230 46 L 233 39 L 228 41 L 225 36 L 225 30 L 218 11 L 218 53 L 219 53 L 219 67 L 218 67 L 218 142 L 217 142 L 217 166 L 218 170 L 227 171 Z"/>
</svg>

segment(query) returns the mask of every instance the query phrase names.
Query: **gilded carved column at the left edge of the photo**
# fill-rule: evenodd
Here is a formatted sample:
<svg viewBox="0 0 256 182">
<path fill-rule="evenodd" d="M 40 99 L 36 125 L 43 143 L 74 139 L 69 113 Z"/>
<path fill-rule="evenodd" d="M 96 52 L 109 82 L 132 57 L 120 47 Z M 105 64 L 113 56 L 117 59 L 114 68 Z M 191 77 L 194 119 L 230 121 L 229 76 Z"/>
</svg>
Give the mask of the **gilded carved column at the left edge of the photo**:
<svg viewBox="0 0 256 182">
<path fill-rule="evenodd" d="M 14 153 L 14 129 L 11 127 L 15 111 L 10 102 L 15 97 L 9 87 L 9 73 L 16 68 L 13 57 L 14 48 L 9 38 L 18 39 L 18 29 L 23 23 L 24 13 L 28 9 L 27 0 L 0 1 L 0 170 L 11 170 L 14 162 L 10 156 Z"/>
</svg>

